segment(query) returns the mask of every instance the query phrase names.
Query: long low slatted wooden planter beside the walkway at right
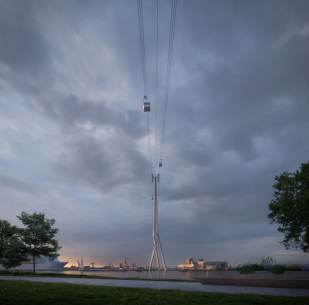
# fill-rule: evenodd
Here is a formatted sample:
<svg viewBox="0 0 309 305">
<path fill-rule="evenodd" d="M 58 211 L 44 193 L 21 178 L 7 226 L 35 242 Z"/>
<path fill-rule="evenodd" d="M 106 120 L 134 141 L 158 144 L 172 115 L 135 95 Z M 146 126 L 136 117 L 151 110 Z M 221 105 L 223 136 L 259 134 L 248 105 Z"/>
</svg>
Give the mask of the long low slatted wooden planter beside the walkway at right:
<svg viewBox="0 0 309 305">
<path fill-rule="evenodd" d="M 309 272 L 303 271 L 285 271 L 280 274 L 271 271 L 248 274 L 240 274 L 238 271 L 207 271 L 205 277 L 193 278 L 204 285 L 309 288 Z"/>
</svg>

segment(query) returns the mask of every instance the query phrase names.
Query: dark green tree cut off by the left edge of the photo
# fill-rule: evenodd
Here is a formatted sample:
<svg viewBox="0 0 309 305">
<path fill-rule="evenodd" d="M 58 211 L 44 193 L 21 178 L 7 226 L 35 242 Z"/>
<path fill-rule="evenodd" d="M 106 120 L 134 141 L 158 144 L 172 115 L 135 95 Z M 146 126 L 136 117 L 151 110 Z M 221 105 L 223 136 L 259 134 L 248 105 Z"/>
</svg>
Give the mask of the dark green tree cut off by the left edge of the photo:
<svg viewBox="0 0 309 305">
<path fill-rule="evenodd" d="M 15 268 L 27 261 L 26 246 L 18 237 L 19 229 L 6 220 L 0 220 L 0 265 Z"/>
</svg>

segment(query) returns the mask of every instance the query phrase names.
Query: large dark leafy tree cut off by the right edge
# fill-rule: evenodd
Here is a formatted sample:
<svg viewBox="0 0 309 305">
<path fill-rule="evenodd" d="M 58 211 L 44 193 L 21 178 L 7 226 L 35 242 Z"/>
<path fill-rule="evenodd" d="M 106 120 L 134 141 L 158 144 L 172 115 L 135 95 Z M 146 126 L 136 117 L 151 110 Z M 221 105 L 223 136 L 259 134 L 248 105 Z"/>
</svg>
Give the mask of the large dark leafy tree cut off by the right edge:
<svg viewBox="0 0 309 305">
<path fill-rule="evenodd" d="M 309 161 L 302 163 L 294 174 L 284 172 L 276 176 L 273 188 L 276 199 L 269 204 L 270 224 L 279 224 L 278 231 L 284 233 L 280 241 L 286 249 L 300 247 L 309 252 Z"/>
</svg>

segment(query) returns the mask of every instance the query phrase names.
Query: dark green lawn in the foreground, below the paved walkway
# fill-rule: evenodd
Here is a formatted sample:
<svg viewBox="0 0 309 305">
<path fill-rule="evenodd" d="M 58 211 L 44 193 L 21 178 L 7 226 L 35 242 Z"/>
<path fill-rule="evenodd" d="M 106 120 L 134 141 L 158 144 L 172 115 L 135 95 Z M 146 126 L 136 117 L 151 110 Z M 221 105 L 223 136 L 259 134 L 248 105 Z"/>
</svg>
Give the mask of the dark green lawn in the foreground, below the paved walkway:
<svg viewBox="0 0 309 305">
<path fill-rule="evenodd" d="M 254 294 L 158 290 L 0 280 L 0 304 L 308 304 L 309 297 L 278 297 Z"/>
</svg>

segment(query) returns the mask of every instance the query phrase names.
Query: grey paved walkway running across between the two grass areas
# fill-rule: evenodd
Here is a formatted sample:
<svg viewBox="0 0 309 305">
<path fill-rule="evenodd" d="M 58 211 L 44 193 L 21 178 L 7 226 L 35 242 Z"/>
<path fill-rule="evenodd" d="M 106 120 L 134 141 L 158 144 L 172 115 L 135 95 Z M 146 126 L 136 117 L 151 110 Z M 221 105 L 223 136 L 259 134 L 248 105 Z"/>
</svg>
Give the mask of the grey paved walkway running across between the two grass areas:
<svg viewBox="0 0 309 305">
<path fill-rule="evenodd" d="M 119 286 L 153 289 L 180 289 L 186 291 L 208 291 L 221 293 L 257 293 L 261 295 L 309 296 L 309 289 L 271 288 L 249 286 L 202 285 L 197 282 L 132 281 L 96 278 L 45 278 L 32 276 L 1 275 L 0 280 L 26 280 L 32 282 L 70 283 L 96 286 Z"/>
</svg>

